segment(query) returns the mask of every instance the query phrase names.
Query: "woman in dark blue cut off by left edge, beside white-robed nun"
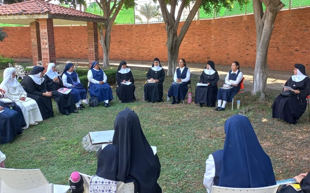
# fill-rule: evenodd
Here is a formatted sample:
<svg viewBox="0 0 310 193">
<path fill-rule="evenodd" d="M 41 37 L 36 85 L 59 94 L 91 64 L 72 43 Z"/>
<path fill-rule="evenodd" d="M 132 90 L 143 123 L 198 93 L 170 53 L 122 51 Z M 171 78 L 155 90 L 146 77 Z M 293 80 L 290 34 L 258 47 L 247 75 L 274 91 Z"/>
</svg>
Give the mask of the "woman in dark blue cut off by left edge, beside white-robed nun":
<svg viewBox="0 0 310 193">
<path fill-rule="evenodd" d="M 0 98 L 5 90 L 0 89 Z M 23 113 L 18 105 L 14 109 L 6 107 L 0 102 L 0 143 L 9 143 L 14 140 L 15 135 L 23 133 L 26 122 Z"/>
</svg>

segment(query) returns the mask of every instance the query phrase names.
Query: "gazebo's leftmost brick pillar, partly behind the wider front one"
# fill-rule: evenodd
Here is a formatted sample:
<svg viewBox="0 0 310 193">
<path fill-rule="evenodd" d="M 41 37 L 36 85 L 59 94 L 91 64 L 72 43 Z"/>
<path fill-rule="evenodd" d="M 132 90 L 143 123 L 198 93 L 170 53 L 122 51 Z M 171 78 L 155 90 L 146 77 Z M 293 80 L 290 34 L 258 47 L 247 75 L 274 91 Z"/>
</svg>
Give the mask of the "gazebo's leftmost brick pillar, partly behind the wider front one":
<svg viewBox="0 0 310 193">
<path fill-rule="evenodd" d="M 32 62 L 33 65 L 37 65 L 37 61 L 42 60 L 39 22 L 34 21 L 30 23 L 30 35 Z"/>
</svg>

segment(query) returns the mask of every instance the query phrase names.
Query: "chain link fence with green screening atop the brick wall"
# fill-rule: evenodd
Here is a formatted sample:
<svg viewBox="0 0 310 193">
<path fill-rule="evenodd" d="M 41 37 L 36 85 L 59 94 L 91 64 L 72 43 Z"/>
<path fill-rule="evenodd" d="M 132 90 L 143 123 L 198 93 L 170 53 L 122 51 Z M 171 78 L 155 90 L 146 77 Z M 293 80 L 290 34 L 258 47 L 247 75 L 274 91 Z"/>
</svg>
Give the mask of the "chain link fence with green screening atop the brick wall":
<svg viewBox="0 0 310 193">
<path fill-rule="evenodd" d="M 284 3 L 285 9 L 292 9 L 298 7 L 310 6 L 310 0 L 281 0 Z M 111 3 L 111 6 L 113 4 Z M 70 5 L 61 5 L 65 7 L 72 7 Z M 95 15 L 103 16 L 103 12 L 97 3 L 87 3 L 86 6 L 78 7 L 77 9 L 81 9 L 85 12 L 92 13 Z M 263 5 L 263 9 L 265 10 L 265 6 Z M 184 21 L 189 14 L 190 8 L 184 8 L 181 21 Z M 178 8 L 175 11 L 178 13 Z M 219 11 L 215 11 L 212 9 L 210 13 L 206 13 L 203 9 L 199 9 L 194 20 L 197 19 L 212 19 L 219 17 L 228 17 L 234 15 L 246 15 L 253 13 L 253 4 L 252 1 L 249 1 L 247 5 L 239 5 L 238 2 L 233 2 L 231 9 L 222 7 Z M 175 16 L 176 17 L 176 16 Z M 161 10 L 158 2 L 151 1 L 136 1 L 136 5 L 134 8 L 125 9 L 123 6 L 120 12 L 118 13 L 115 24 L 139 24 L 139 23 L 162 23 L 164 22 Z M 23 26 L 16 24 L 5 24 L 0 23 L 0 27 L 11 27 L 11 26 Z"/>
</svg>

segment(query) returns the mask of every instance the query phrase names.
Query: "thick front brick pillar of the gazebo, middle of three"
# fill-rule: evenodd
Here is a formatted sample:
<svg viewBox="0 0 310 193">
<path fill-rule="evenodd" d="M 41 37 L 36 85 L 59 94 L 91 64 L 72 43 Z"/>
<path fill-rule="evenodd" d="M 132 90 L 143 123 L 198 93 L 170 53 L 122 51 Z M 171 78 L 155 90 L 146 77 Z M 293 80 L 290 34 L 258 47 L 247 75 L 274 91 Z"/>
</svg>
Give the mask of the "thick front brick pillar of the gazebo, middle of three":
<svg viewBox="0 0 310 193">
<path fill-rule="evenodd" d="M 56 63 L 53 19 L 39 19 L 42 62 L 45 71 L 50 62 Z"/>
</svg>

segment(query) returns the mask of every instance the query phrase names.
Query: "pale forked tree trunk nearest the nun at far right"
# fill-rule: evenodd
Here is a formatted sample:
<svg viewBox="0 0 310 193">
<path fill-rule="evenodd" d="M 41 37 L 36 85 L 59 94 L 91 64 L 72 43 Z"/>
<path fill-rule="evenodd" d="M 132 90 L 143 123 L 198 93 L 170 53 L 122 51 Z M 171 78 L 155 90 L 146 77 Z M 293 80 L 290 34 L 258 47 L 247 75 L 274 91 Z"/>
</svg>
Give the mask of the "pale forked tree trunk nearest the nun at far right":
<svg viewBox="0 0 310 193">
<path fill-rule="evenodd" d="M 273 6 L 272 3 L 276 3 Z M 265 100 L 265 91 L 268 78 L 268 46 L 274 27 L 274 22 L 277 17 L 277 12 L 283 8 L 283 3 L 268 1 L 266 10 L 263 13 L 262 3 L 258 0 L 253 0 L 255 25 L 256 25 L 256 61 L 253 75 L 252 94 L 261 92 L 259 100 Z"/>
</svg>

